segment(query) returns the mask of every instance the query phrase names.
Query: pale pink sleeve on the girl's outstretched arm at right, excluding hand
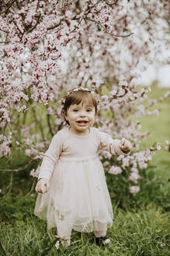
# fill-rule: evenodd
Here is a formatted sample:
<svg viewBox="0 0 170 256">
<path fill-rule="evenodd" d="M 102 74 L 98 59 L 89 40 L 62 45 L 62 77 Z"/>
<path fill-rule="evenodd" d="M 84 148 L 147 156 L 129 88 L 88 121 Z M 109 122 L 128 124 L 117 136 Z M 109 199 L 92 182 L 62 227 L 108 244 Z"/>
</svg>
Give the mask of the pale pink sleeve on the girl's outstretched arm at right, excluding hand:
<svg viewBox="0 0 170 256">
<path fill-rule="evenodd" d="M 120 140 L 113 140 L 113 138 L 107 134 L 99 131 L 99 149 L 109 151 L 112 155 L 127 155 L 120 149 Z"/>
</svg>

